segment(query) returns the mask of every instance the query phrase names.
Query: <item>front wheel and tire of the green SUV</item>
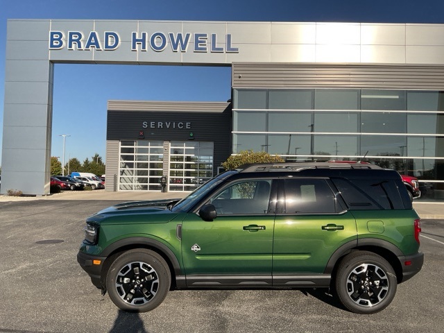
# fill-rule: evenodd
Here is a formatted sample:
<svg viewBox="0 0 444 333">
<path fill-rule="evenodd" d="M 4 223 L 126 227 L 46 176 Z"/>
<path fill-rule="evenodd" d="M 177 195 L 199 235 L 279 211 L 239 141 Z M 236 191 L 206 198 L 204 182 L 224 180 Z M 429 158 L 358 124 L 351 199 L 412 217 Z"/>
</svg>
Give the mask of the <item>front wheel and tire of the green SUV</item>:
<svg viewBox="0 0 444 333">
<path fill-rule="evenodd" d="M 155 309 L 167 296 L 171 273 L 167 262 L 151 250 L 123 253 L 111 264 L 106 289 L 114 305 L 124 311 Z"/>
</svg>

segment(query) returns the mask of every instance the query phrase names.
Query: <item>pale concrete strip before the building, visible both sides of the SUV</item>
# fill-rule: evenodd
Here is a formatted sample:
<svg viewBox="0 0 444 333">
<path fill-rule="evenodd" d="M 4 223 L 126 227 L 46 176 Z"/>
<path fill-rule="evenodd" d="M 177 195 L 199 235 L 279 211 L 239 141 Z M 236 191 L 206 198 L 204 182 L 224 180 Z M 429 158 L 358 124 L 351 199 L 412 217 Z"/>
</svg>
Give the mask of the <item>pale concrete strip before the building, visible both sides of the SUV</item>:
<svg viewBox="0 0 444 333">
<path fill-rule="evenodd" d="M 153 191 L 62 191 L 49 196 L 0 196 L 0 202 L 24 200 L 153 200 L 162 198 L 183 198 L 189 192 L 153 192 Z M 421 219 L 444 219 L 444 202 L 413 201 L 413 207 Z"/>
</svg>

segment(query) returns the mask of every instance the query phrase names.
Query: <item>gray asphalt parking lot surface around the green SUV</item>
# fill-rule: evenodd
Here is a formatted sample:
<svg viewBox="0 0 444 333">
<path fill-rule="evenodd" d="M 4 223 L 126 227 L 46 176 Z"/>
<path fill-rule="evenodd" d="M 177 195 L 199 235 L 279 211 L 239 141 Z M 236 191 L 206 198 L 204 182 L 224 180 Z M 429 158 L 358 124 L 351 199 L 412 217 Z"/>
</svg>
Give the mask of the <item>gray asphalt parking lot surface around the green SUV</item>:
<svg viewBox="0 0 444 333">
<path fill-rule="evenodd" d="M 378 314 L 345 311 L 323 289 L 171 291 L 131 314 L 76 262 L 85 218 L 121 200 L 60 199 L 0 202 L 0 332 L 443 332 L 443 220 L 422 221 L 422 271 Z"/>
</svg>

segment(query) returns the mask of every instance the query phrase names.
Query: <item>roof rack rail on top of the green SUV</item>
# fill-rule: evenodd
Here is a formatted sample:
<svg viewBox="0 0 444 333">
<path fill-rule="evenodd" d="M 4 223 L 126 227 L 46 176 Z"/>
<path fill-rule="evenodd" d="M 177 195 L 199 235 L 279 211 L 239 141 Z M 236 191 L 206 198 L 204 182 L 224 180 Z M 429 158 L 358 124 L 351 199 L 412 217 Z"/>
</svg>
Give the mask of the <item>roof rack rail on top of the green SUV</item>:
<svg viewBox="0 0 444 333">
<path fill-rule="evenodd" d="M 239 172 L 261 171 L 302 171 L 306 169 L 383 169 L 375 164 L 335 163 L 335 162 L 293 162 L 293 163 L 253 163 L 241 165 Z"/>
</svg>

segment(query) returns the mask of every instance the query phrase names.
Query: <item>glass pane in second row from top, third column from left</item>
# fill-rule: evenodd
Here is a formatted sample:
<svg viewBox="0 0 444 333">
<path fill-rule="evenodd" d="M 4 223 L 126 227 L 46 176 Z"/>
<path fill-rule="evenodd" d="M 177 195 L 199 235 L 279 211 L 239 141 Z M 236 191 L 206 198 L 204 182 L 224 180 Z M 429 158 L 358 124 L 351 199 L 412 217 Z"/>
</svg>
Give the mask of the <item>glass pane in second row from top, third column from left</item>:
<svg viewBox="0 0 444 333">
<path fill-rule="evenodd" d="M 358 114 L 356 112 L 315 112 L 316 132 L 357 133 Z"/>
</svg>

